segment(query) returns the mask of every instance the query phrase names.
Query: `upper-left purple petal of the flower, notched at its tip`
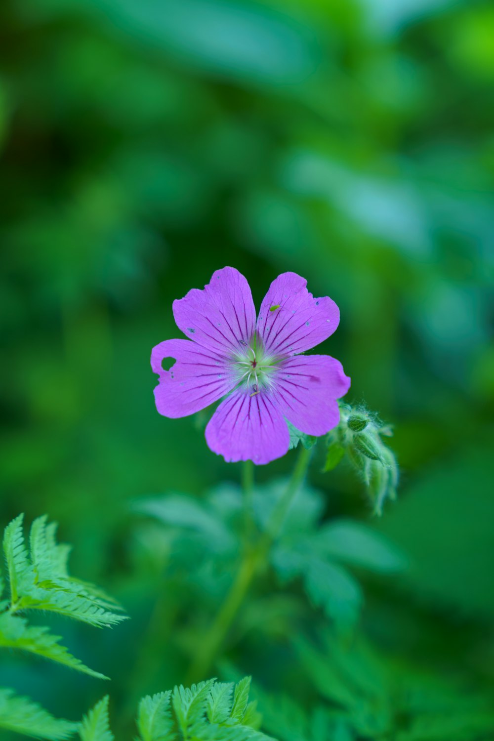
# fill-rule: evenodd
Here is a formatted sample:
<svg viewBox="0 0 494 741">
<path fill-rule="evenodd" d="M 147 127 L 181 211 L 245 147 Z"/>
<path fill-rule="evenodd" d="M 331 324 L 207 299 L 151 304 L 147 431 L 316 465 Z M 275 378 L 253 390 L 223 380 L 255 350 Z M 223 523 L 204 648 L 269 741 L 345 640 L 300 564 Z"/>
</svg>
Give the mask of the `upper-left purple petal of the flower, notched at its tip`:
<svg viewBox="0 0 494 741">
<path fill-rule="evenodd" d="M 221 357 L 248 343 L 256 325 L 249 284 L 235 268 L 216 270 L 204 290 L 174 301 L 173 316 L 187 337 Z"/>
</svg>

